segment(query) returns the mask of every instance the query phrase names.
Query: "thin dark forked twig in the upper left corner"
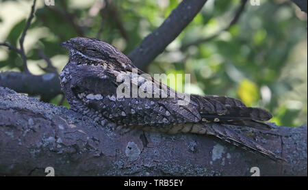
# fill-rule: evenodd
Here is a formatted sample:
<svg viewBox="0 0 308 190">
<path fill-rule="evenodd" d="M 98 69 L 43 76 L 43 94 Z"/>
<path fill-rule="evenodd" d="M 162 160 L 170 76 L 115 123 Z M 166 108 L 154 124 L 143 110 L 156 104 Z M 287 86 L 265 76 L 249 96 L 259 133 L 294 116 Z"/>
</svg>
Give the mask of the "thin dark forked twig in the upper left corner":
<svg viewBox="0 0 308 190">
<path fill-rule="evenodd" d="M 8 49 L 12 49 L 12 50 L 16 51 L 16 53 L 21 55 L 21 59 L 23 60 L 23 69 L 27 73 L 29 73 L 29 69 L 28 69 L 28 66 L 27 66 L 27 57 L 25 55 L 25 49 L 23 48 L 23 42 L 25 40 L 25 35 L 27 33 L 27 30 L 29 29 L 29 26 L 31 25 L 31 21 L 34 18 L 35 6 L 36 6 L 36 0 L 33 1 L 33 5 L 31 7 L 30 16 L 29 16 L 29 18 L 27 20 L 25 28 L 23 29 L 23 33 L 21 33 L 21 38 L 19 39 L 19 45 L 21 46 L 20 49 L 17 49 L 16 47 L 14 47 L 14 46 L 6 43 L 6 42 L 0 43 L 0 46 L 7 46 Z"/>
</svg>

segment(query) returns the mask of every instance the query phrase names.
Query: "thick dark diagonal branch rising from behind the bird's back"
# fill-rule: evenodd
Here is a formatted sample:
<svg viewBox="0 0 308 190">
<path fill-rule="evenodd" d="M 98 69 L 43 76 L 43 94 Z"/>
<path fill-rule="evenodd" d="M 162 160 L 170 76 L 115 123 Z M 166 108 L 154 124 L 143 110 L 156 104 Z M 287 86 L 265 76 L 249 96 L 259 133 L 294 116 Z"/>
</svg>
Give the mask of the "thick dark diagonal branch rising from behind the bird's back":
<svg viewBox="0 0 308 190">
<path fill-rule="evenodd" d="M 140 69 L 146 68 L 150 62 L 166 49 L 179 33 L 198 14 L 207 0 L 183 0 L 172 10 L 168 18 L 149 36 L 146 36 L 128 57 Z"/>
</svg>

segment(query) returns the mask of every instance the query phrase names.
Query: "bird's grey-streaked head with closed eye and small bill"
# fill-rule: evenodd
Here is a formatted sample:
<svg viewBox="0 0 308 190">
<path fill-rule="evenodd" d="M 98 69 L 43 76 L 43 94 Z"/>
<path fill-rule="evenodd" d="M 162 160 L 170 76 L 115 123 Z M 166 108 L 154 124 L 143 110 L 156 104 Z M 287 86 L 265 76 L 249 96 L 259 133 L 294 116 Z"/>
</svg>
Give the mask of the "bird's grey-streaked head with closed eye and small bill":
<svg viewBox="0 0 308 190">
<path fill-rule="evenodd" d="M 71 38 L 60 44 L 69 51 L 69 62 L 97 65 L 112 64 L 114 67 L 131 66 L 131 60 L 114 46 L 95 38 Z"/>
</svg>

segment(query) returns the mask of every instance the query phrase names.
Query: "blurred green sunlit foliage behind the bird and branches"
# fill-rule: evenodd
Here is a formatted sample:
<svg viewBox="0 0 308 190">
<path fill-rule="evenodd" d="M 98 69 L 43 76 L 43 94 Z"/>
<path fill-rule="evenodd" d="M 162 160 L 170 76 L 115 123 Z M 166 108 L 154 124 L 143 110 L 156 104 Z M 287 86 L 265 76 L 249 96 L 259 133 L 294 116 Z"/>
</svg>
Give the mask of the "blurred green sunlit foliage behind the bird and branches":
<svg viewBox="0 0 308 190">
<path fill-rule="evenodd" d="M 29 70 L 44 73 L 41 67 L 47 64 L 36 51 L 42 49 L 60 72 L 68 53 L 59 44 L 76 36 L 99 38 L 128 54 L 180 2 L 55 0 L 55 6 L 48 7 L 38 1 L 25 36 Z M 0 1 L 0 42 L 18 46 L 32 3 Z M 307 14 L 290 1 L 261 0 L 260 5 L 248 1 L 238 21 L 228 27 L 240 3 L 207 1 L 164 53 L 142 70 L 189 73 L 192 94 L 227 95 L 264 107 L 277 125 L 307 124 Z M 216 38 L 209 38 L 213 35 Z M 23 72 L 22 59 L 4 46 L 0 71 Z M 57 105 L 61 98 L 59 94 L 50 102 Z M 66 101 L 63 105 L 69 107 Z"/>
</svg>

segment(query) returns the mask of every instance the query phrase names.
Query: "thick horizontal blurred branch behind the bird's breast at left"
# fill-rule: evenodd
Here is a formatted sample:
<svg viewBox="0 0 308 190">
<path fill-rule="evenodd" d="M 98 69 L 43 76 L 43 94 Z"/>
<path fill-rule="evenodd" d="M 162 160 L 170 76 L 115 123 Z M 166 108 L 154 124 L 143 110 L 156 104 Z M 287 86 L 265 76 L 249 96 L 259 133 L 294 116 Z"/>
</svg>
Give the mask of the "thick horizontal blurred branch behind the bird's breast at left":
<svg viewBox="0 0 308 190">
<path fill-rule="evenodd" d="M 44 102 L 62 94 L 60 80 L 55 73 L 34 75 L 29 72 L 0 72 L 0 86 L 31 96 L 40 95 Z"/>
</svg>

